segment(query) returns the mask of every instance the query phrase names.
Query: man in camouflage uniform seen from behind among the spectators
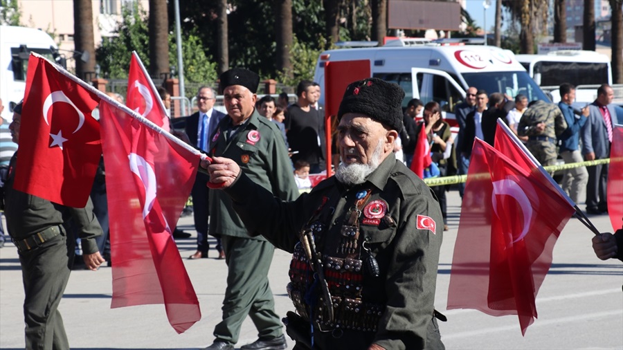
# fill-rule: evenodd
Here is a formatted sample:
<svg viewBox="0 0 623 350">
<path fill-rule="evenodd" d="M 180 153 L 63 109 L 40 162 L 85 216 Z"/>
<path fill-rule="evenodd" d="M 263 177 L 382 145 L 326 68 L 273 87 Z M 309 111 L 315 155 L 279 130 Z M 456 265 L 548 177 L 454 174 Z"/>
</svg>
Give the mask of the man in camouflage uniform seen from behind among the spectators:
<svg viewBox="0 0 623 350">
<path fill-rule="evenodd" d="M 556 138 L 567 129 L 567 122 L 556 104 L 530 102 L 517 127 L 518 136 L 527 136 L 526 147 L 543 166 L 556 164 Z"/>
</svg>

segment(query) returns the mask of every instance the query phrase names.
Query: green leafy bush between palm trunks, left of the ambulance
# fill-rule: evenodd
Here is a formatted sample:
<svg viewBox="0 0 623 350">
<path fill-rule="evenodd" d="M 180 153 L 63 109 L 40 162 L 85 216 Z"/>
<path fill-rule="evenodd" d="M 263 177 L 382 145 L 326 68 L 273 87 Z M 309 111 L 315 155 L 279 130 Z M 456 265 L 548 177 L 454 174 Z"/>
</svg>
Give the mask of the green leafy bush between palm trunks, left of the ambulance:
<svg viewBox="0 0 623 350">
<path fill-rule="evenodd" d="M 277 80 L 287 86 L 296 86 L 301 80 L 314 80 L 316 61 L 323 50 L 322 47 L 326 44 L 322 40 L 325 39 L 321 37 L 319 42 L 311 47 L 309 44 L 300 42 L 295 36 L 294 44 L 290 49 L 294 77 L 288 77 L 287 72 L 277 72 Z"/>
</svg>

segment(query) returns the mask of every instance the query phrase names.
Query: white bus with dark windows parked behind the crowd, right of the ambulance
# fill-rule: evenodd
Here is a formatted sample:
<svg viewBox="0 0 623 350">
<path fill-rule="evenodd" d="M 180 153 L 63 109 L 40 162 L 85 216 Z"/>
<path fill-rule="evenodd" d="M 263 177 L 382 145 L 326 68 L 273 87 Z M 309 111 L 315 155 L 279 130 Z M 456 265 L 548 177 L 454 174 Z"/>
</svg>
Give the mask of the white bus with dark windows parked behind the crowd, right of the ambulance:
<svg viewBox="0 0 623 350">
<path fill-rule="evenodd" d="M 559 86 L 563 82 L 577 86 L 575 100 L 582 104 L 597 98 L 596 86 L 612 85 L 610 59 L 595 51 L 558 50 L 516 57 L 536 84 L 550 91 L 554 102 L 560 102 Z"/>
</svg>

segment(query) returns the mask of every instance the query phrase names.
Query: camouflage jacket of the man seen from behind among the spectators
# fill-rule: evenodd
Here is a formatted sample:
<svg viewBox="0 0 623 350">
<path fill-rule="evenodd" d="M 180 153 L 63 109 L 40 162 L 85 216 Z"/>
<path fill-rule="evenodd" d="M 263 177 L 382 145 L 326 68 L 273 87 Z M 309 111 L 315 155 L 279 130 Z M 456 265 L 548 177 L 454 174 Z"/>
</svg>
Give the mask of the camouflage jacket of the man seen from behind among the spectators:
<svg viewBox="0 0 623 350">
<path fill-rule="evenodd" d="M 536 125 L 544 122 L 545 130 L 542 133 L 536 131 Z M 556 140 L 567 129 L 567 122 L 561 110 L 556 104 L 545 101 L 536 101 L 525 110 L 519 124 L 517 134 L 519 136 L 547 136 Z"/>
</svg>

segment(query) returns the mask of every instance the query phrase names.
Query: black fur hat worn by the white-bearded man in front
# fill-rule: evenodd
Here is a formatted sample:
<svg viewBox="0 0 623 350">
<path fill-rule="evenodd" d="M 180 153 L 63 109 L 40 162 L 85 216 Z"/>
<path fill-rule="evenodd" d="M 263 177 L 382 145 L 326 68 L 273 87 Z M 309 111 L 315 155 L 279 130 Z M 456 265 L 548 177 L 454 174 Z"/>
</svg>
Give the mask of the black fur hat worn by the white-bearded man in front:
<svg viewBox="0 0 623 350">
<path fill-rule="evenodd" d="M 376 77 L 353 82 L 346 88 L 338 120 L 346 113 L 361 113 L 398 132 L 402 129 L 404 90 Z"/>
</svg>

